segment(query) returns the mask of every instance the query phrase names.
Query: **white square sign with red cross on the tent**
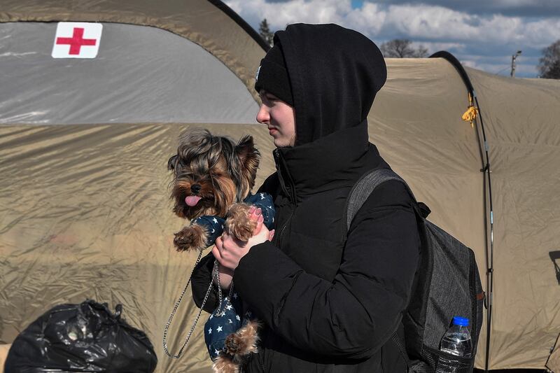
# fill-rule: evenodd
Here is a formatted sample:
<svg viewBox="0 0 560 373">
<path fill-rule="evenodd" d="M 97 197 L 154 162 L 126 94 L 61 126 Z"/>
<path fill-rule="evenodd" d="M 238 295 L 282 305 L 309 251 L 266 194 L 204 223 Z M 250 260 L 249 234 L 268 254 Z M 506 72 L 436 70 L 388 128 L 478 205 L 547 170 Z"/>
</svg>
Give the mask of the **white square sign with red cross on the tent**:
<svg viewBox="0 0 560 373">
<path fill-rule="evenodd" d="M 103 24 L 58 22 L 52 58 L 95 58 Z"/>
</svg>

